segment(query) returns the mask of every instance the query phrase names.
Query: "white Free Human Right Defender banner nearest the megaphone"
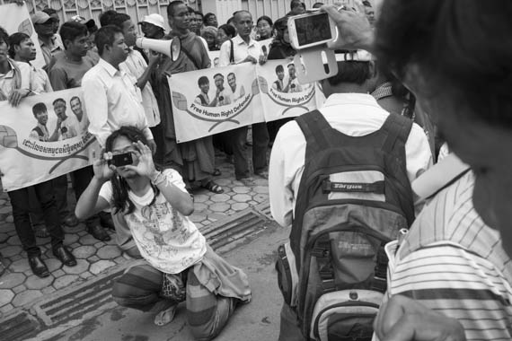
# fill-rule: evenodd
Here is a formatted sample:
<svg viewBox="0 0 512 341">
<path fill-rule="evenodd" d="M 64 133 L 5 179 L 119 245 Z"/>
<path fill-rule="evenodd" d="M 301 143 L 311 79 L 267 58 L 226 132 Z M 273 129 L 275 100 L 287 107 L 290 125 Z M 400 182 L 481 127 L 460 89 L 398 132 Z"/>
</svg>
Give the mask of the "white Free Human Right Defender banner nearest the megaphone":
<svg viewBox="0 0 512 341">
<path fill-rule="evenodd" d="M 178 143 L 264 120 L 255 68 L 249 63 L 169 77 Z"/>
</svg>

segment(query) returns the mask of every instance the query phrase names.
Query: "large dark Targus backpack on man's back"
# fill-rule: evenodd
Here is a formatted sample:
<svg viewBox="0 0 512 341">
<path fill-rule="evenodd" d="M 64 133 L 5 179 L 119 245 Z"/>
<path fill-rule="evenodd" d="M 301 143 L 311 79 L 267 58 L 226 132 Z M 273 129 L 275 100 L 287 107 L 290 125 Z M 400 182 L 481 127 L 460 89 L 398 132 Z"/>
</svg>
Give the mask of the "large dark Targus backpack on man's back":
<svg viewBox="0 0 512 341">
<path fill-rule="evenodd" d="M 296 118 L 306 139 L 278 283 L 306 340 L 371 340 L 386 290 L 384 245 L 414 219 L 405 167 L 410 119 L 389 115 L 367 136 L 346 136 L 318 110 Z"/>
</svg>

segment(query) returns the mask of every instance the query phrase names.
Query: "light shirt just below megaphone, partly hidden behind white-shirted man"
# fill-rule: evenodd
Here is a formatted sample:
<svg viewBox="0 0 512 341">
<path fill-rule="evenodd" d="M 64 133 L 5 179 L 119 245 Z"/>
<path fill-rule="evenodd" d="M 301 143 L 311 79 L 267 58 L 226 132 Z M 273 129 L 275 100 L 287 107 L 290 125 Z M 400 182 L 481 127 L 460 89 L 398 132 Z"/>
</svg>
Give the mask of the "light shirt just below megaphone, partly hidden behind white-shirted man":
<svg viewBox="0 0 512 341">
<path fill-rule="evenodd" d="M 147 63 L 144 57 L 137 50 L 130 49 L 127 60 L 119 64 L 119 70 L 138 79 L 145 73 Z M 160 124 L 160 111 L 158 110 L 158 103 L 154 97 L 153 88 L 149 82 L 146 83 L 142 92 L 142 105 L 146 113 L 147 124 L 149 127 L 154 127 Z"/>
</svg>

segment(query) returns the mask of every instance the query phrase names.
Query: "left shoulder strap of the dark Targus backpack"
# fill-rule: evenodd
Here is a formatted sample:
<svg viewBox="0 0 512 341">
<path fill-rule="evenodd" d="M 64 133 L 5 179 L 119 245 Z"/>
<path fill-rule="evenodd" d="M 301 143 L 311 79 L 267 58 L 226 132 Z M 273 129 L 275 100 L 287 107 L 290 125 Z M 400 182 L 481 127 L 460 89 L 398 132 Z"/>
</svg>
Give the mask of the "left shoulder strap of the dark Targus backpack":
<svg viewBox="0 0 512 341">
<path fill-rule="evenodd" d="M 326 136 L 332 127 L 319 110 L 313 110 L 297 117 L 296 122 L 305 136 L 306 143 L 314 145 L 315 150 L 322 150 L 331 146 Z"/>
</svg>

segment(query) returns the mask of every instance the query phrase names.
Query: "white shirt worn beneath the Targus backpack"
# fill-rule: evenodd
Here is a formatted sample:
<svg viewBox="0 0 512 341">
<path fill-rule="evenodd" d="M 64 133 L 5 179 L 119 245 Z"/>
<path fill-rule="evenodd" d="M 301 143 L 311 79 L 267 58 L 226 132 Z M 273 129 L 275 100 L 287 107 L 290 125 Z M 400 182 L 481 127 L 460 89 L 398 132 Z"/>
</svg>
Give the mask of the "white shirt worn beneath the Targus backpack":
<svg viewBox="0 0 512 341">
<path fill-rule="evenodd" d="M 363 93 L 332 94 L 320 111 L 332 128 L 348 136 L 375 132 L 389 115 L 372 96 Z M 296 194 L 305 167 L 305 146 L 302 130 L 296 121 L 290 121 L 279 129 L 270 154 L 270 209 L 281 226 L 289 226 L 295 215 Z M 432 164 L 427 136 L 417 124 L 410 130 L 405 157 L 410 181 Z"/>
</svg>

